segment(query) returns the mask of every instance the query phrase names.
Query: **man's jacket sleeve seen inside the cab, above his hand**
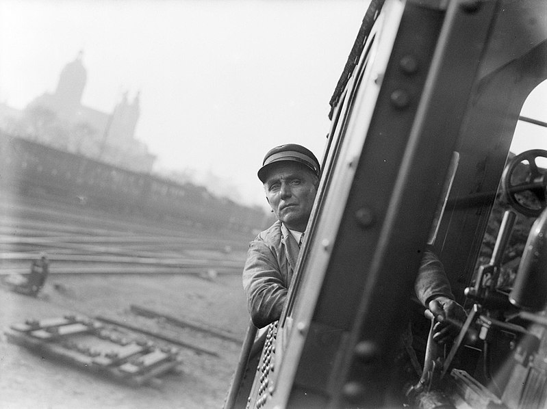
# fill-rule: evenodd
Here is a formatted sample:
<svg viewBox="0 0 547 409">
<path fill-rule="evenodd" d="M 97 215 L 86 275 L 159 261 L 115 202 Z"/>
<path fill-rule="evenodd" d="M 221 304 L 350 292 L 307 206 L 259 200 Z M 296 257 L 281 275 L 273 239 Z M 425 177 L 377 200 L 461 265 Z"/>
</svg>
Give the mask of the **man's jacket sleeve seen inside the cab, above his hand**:
<svg viewBox="0 0 547 409">
<path fill-rule="evenodd" d="M 416 282 L 414 282 L 414 291 L 424 306 L 441 295 L 454 300 L 444 266 L 431 250 L 425 251 Z"/>
</svg>

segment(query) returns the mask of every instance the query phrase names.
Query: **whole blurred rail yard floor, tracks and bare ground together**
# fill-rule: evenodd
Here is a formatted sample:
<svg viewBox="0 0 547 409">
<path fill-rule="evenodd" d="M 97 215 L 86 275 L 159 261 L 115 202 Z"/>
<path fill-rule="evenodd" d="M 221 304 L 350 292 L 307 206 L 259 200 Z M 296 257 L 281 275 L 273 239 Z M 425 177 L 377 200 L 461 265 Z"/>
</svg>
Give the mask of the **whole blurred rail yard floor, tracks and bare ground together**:
<svg viewBox="0 0 547 409">
<path fill-rule="evenodd" d="M 2 328 L 84 315 L 129 339 L 176 347 L 181 360 L 161 389 L 129 390 L 0 339 L 3 399 L 94 408 L 117 407 L 123 395 L 131 408 L 221 406 L 248 322 L 240 274 L 252 238 L 0 195 L 0 279 L 29 272 L 40 252 L 50 260 L 38 296 L 0 287 Z"/>
</svg>

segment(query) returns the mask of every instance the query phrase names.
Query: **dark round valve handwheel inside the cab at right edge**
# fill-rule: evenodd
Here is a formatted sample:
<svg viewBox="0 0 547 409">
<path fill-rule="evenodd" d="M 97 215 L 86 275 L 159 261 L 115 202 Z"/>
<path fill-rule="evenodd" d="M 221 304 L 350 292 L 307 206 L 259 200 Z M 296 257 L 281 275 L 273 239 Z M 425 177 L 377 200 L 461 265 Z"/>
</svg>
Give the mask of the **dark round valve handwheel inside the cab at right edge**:
<svg viewBox="0 0 547 409">
<path fill-rule="evenodd" d="M 502 176 L 502 187 L 509 204 L 520 213 L 538 217 L 547 207 L 547 169 L 537 166 L 538 157 L 546 158 L 547 150 L 526 150 L 511 159 Z M 528 162 L 526 172 L 518 171 Z"/>
</svg>

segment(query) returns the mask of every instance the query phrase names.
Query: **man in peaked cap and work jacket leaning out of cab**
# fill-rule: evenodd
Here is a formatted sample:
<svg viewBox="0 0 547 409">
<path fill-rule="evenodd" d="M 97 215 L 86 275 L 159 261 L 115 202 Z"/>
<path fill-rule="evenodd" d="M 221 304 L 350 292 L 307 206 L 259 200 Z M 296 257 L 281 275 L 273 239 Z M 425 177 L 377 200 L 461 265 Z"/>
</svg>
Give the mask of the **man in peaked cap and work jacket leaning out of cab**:
<svg viewBox="0 0 547 409">
<path fill-rule="evenodd" d="M 249 312 L 258 328 L 281 317 L 319 176 L 320 165 L 314 154 L 297 144 L 272 148 L 258 171 L 266 200 L 277 217 L 277 222 L 251 242 L 243 270 Z M 465 319 L 465 312 L 453 301 L 444 268 L 430 251 L 422 259 L 415 292 L 439 321 L 435 341 L 448 341 L 457 330 L 448 323 Z"/>
</svg>

